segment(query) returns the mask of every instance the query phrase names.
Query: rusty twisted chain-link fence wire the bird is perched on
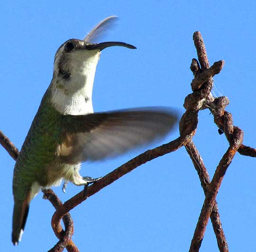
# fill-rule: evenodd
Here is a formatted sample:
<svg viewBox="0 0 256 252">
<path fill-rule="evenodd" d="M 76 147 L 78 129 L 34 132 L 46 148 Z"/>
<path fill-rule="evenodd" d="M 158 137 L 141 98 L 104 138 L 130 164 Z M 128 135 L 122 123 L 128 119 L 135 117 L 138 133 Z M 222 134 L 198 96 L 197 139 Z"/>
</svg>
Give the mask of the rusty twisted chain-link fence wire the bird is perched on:
<svg viewBox="0 0 256 252">
<path fill-rule="evenodd" d="M 71 209 L 82 203 L 82 201 L 86 200 L 86 198 L 97 193 L 102 188 L 110 185 L 115 180 L 118 180 L 121 176 L 137 168 L 139 165 L 167 153 L 174 152 L 182 146 L 185 146 L 192 159 L 205 194 L 205 200 L 189 251 L 199 251 L 209 218 L 212 222 L 213 230 L 216 235 L 219 251 L 229 251 L 228 243 L 220 222 L 216 196 L 225 172 L 227 171 L 227 168 L 229 167 L 234 155 L 238 152 L 242 155 L 256 157 L 256 149 L 242 144 L 243 131 L 237 126 L 233 126 L 232 115 L 225 111 L 226 106 L 229 104 L 229 99 L 227 97 L 214 98 L 211 95 L 211 89 L 213 86 L 212 77 L 222 70 L 224 61 L 215 62 L 210 67 L 205 45 L 200 32 L 194 33 L 193 40 L 197 50 L 198 61 L 196 59 L 192 59 L 191 63 L 191 70 L 194 75 L 194 79 L 191 83 L 193 92 L 189 94 L 184 101 L 184 108 L 186 111 L 183 114 L 179 124 L 180 137 L 168 144 L 163 144 L 155 149 L 148 150 L 145 153 L 131 159 L 127 163 L 121 165 L 119 168 L 104 176 L 101 180 L 98 180 L 92 184 L 87 189 L 86 195 L 83 191 L 81 191 L 64 204 L 62 204 L 60 199 L 51 189 L 44 189 L 44 198 L 48 199 L 56 209 L 52 217 L 52 228 L 55 235 L 59 239 L 59 242 L 49 250 L 50 252 L 61 252 L 64 250 L 64 248 L 66 248 L 68 252 L 79 252 L 78 248 L 72 241 L 73 221 L 69 214 Z M 192 137 L 195 135 L 198 124 L 198 112 L 201 109 L 210 109 L 214 116 L 215 124 L 219 127 L 221 132 L 225 133 L 229 142 L 229 148 L 220 160 L 211 181 L 201 155 L 192 142 Z M 17 159 L 18 149 L 1 131 L 0 144 L 7 150 L 14 160 Z M 64 221 L 65 230 L 63 230 L 61 226 L 61 219 Z"/>
</svg>

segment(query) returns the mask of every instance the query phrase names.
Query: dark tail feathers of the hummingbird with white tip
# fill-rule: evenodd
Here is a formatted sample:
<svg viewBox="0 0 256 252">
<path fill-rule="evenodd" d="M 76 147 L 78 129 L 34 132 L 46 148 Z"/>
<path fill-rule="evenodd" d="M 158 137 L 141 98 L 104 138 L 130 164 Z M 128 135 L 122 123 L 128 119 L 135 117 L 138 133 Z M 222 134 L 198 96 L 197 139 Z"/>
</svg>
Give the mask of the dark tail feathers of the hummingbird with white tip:
<svg viewBox="0 0 256 252">
<path fill-rule="evenodd" d="M 15 200 L 12 218 L 12 243 L 18 245 L 24 231 L 29 209 L 28 197 L 24 200 Z"/>
</svg>

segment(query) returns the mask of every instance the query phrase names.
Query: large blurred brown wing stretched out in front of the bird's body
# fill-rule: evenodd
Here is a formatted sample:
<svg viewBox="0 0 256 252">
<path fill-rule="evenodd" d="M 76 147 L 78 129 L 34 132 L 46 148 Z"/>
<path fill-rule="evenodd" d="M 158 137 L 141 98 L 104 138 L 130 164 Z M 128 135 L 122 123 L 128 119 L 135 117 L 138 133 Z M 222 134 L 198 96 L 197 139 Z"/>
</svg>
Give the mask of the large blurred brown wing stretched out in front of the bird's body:
<svg viewBox="0 0 256 252">
<path fill-rule="evenodd" d="M 119 155 L 166 135 L 177 122 L 169 108 L 116 110 L 63 118 L 60 157 L 65 163 Z"/>
</svg>

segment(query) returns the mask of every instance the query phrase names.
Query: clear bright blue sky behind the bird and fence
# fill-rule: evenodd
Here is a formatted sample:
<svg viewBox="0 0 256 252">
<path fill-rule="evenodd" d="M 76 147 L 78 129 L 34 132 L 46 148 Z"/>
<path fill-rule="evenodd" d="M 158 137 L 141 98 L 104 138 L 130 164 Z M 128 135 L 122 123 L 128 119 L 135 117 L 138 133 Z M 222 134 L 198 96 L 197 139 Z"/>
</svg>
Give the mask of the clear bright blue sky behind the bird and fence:
<svg viewBox="0 0 256 252">
<path fill-rule="evenodd" d="M 6 1 L 0 15 L 0 130 L 20 149 L 51 81 L 59 45 L 83 38 L 100 20 L 117 15 L 119 25 L 102 41 L 124 41 L 137 50 L 111 47 L 102 52 L 94 81 L 95 111 L 161 105 L 183 112 L 184 98 L 191 92 L 190 63 L 196 57 L 192 34 L 199 30 L 210 63 L 225 60 L 214 95 L 229 98 L 227 110 L 244 130 L 244 144 L 256 147 L 255 9 L 253 1 Z M 176 127 L 158 144 L 177 136 Z M 200 112 L 194 142 L 212 177 L 228 142 L 218 134 L 209 111 Z M 81 174 L 103 176 L 138 153 L 84 163 Z M 0 160 L 1 251 L 47 251 L 57 239 L 50 225 L 54 208 L 42 193 L 31 203 L 21 243 L 12 245 L 14 161 L 2 148 Z M 238 154 L 219 190 L 219 213 L 232 252 L 256 247 L 255 177 L 256 160 Z M 81 189 L 69 184 L 64 194 L 54 188 L 62 201 Z M 198 175 L 181 148 L 144 164 L 73 209 L 73 241 L 90 252 L 188 251 L 203 200 Z M 218 251 L 210 223 L 201 251 Z"/>
</svg>

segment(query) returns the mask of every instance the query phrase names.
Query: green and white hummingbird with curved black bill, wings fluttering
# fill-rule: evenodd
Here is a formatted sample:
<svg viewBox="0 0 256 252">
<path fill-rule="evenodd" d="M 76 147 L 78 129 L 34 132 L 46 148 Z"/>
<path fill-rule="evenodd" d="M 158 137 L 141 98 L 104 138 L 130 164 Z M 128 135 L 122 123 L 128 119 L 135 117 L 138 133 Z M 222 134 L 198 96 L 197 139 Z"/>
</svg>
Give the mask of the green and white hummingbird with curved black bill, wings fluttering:
<svg viewBox="0 0 256 252">
<path fill-rule="evenodd" d="M 82 162 L 117 156 L 152 142 L 177 121 L 176 112 L 163 107 L 93 112 L 92 87 L 101 51 L 110 46 L 136 49 L 124 42 L 94 43 L 116 18 L 105 18 L 83 40 L 67 40 L 55 54 L 52 81 L 14 167 L 14 245 L 21 240 L 30 201 L 41 189 L 62 180 L 87 185 L 95 180 L 80 175 Z"/>
</svg>

